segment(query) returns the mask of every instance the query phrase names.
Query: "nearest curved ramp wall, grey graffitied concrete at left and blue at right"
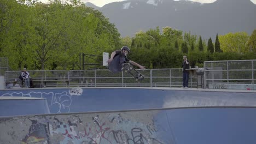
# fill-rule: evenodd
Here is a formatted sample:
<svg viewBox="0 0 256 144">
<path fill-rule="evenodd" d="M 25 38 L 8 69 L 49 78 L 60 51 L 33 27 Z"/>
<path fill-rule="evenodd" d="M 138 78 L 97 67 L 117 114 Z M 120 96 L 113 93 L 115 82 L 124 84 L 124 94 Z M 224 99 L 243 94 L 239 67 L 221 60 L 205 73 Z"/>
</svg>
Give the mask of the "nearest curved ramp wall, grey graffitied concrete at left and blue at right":
<svg viewBox="0 0 256 144">
<path fill-rule="evenodd" d="M 0 118 L 2 143 L 256 143 L 256 107 L 194 107 Z"/>
</svg>

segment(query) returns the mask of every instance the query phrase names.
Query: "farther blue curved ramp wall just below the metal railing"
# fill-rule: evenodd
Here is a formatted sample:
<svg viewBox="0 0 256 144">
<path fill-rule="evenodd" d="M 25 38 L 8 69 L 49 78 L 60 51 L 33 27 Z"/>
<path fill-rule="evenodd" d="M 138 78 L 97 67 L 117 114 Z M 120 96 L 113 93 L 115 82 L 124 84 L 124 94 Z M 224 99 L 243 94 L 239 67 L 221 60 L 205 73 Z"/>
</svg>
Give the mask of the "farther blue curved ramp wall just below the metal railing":
<svg viewBox="0 0 256 144">
<path fill-rule="evenodd" d="M 193 106 L 256 106 L 255 91 L 200 91 L 182 88 L 42 88 L 1 90 L 0 95 L 45 98 L 50 113 Z"/>
</svg>

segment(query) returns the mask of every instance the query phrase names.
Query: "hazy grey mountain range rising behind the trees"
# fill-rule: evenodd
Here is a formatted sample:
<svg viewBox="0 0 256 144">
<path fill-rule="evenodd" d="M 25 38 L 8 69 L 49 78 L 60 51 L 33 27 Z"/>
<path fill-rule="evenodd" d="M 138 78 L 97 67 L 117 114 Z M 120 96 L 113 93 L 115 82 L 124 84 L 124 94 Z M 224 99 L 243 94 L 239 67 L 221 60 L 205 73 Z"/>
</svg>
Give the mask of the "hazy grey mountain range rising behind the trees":
<svg viewBox="0 0 256 144">
<path fill-rule="evenodd" d="M 215 39 L 216 34 L 247 32 L 256 29 L 256 5 L 250 0 L 217 0 L 202 4 L 173 0 L 127 0 L 97 7 L 118 28 L 122 37 L 159 26 L 172 27 L 202 38 Z"/>
</svg>

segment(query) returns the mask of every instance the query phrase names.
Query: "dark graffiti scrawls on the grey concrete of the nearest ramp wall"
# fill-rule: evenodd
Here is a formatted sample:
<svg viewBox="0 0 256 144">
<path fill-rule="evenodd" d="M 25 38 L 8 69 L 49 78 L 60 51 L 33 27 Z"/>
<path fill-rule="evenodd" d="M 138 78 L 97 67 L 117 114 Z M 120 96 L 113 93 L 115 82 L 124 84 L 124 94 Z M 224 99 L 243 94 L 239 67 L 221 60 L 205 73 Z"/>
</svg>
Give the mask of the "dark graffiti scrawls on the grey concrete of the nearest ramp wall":
<svg viewBox="0 0 256 144">
<path fill-rule="evenodd" d="M 25 135 L 21 132 L 21 143 L 163 143 L 157 139 L 158 129 L 152 119 L 139 122 L 120 113 L 36 116 L 17 121 L 25 122 L 28 131 Z"/>
</svg>

